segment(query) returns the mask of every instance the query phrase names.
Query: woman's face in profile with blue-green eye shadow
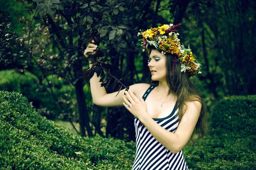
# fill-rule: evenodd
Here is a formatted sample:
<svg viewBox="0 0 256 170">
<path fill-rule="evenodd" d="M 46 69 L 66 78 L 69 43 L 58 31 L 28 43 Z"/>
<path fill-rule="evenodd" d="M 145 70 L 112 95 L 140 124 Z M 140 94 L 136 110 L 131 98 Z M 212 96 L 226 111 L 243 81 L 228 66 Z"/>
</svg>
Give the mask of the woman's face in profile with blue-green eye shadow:
<svg viewBox="0 0 256 170">
<path fill-rule="evenodd" d="M 148 67 L 153 81 L 166 81 L 166 56 L 158 50 L 152 50 L 148 58 Z"/>
</svg>

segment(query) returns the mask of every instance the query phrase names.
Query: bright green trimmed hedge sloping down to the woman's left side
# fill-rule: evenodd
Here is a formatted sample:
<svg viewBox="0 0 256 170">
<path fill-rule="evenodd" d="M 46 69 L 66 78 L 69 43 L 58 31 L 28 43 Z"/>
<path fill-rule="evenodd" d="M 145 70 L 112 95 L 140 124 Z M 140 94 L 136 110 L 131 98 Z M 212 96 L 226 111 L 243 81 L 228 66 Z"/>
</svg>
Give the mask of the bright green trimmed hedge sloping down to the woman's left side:
<svg viewBox="0 0 256 170">
<path fill-rule="evenodd" d="M 131 169 L 135 144 L 85 138 L 40 116 L 26 97 L 0 92 L 2 169 Z"/>
</svg>

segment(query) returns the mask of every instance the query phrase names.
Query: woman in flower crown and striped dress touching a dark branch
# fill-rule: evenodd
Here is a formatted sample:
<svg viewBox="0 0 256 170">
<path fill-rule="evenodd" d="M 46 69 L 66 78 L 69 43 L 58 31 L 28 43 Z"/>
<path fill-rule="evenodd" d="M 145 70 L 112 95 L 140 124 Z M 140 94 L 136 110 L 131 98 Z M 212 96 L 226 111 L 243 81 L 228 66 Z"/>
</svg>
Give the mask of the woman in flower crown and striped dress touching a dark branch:
<svg viewBox="0 0 256 170">
<path fill-rule="evenodd" d="M 193 136 L 203 137 L 207 129 L 205 103 L 189 79 L 201 73 L 200 64 L 189 48 L 180 45 L 177 26 L 138 33 L 143 36 L 143 51 L 150 53 L 151 84 L 134 84 L 117 95 L 106 93 L 96 73 L 90 79 L 93 103 L 123 105 L 135 116 L 137 150 L 132 170 L 187 170 L 181 149 Z M 84 55 L 96 48 L 90 43 Z"/>
</svg>

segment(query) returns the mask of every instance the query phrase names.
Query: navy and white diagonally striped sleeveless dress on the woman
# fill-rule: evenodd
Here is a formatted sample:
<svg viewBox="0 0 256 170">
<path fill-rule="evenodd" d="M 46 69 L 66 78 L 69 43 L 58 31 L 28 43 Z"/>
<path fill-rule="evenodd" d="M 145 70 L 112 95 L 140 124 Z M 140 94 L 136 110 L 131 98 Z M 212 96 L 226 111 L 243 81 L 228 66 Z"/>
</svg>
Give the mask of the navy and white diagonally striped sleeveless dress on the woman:
<svg viewBox="0 0 256 170">
<path fill-rule="evenodd" d="M 151 86 L 143 95 L 143 99 L 154 89 Z M 166 130 L 175 133 L 179 125 L 177 106 L 173 108 L 172 113 L 165 118 L 152 118 L 158 125 Z M 172 153 L 166 147 L 158 142 L 140 122 L 137 117 L 134 118 L 136 133 L 136 156 L 132 170 L 188 170 L 183 153 Z"/>
</svg>

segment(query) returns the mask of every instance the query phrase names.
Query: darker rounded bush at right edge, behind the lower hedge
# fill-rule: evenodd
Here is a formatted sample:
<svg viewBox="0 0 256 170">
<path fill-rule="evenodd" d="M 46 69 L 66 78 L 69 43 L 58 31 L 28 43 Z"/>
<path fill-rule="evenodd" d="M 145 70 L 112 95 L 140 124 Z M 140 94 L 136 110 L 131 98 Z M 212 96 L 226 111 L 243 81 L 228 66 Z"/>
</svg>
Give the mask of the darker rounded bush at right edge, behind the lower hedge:
<svg viewBox="0 0 256 170">
<path fill-rule="evenodd" d="M 256 96 L 231 96 L 219 101 L 211 114 L 212 127 L 216 133 L 227 131 L 239 136 L 256 132 Z"/>
</svg>

